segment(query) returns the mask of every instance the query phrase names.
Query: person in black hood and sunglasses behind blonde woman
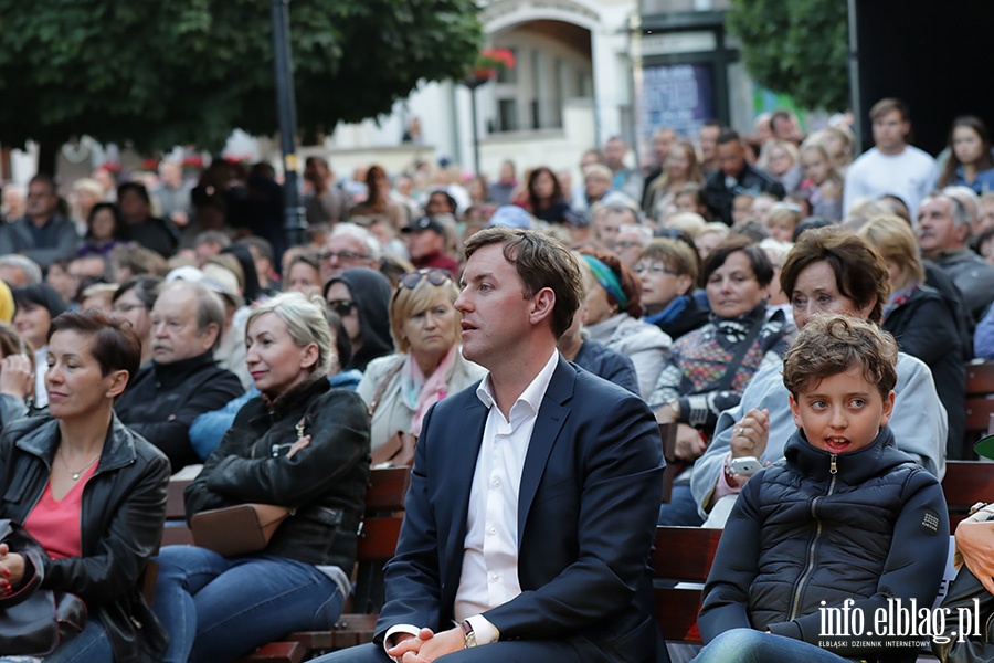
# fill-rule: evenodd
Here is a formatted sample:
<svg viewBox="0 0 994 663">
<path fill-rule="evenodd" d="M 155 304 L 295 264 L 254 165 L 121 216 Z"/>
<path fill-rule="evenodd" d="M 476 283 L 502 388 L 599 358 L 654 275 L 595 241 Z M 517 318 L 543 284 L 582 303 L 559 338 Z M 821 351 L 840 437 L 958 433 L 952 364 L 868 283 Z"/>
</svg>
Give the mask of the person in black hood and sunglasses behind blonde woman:
<svg viewBox="0 0 994 663">
<path fill-rule="evenodd" d="M 325 284 L 328 308 L 341 317 L 352 344 L 352 359 L 342 370 L 366 370 L 393 351 L 390 339 L 390 282 L 369 267 L 351 267 Z"/>
</svg>

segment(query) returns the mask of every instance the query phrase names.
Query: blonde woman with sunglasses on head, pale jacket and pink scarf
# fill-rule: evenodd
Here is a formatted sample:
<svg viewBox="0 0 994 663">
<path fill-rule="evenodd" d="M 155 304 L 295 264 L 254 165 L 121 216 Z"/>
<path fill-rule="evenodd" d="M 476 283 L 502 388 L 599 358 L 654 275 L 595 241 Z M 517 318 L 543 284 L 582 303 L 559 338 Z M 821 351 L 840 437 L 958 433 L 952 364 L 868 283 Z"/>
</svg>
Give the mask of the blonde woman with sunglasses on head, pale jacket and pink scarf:
<svg viewBox="0 0 994 663">
<path fill-rule="evenodd" d="M 403 434 L 421 433 L 432 403 L 483 377 L 484 369 L 459 352 L 461 318 L 453 306 L 458 294 L 443 270 L 400 278 L 390 303 L 390 332 L 399 351 L 370 362 L 357 388 L 372 412 L 374 462 L 394 456 Z"/>
</svg>

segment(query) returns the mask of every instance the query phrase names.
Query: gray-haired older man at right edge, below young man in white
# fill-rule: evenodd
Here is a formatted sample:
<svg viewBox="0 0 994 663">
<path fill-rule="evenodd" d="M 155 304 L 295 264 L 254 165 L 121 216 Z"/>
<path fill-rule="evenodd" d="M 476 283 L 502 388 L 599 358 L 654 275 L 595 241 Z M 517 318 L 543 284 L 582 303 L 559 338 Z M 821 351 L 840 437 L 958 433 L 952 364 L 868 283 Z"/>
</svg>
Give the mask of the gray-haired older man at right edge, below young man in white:
<svg viewBox="0 0 994 663">
<path fill-rule="evenodd" d="M 922 255 L 953 280 L 974 320 L 994 301 L 994 265 L 970 250 L 970 213 L 948 190 L 926 197 L 918 208 L 918 245 Z"/>
</svg>

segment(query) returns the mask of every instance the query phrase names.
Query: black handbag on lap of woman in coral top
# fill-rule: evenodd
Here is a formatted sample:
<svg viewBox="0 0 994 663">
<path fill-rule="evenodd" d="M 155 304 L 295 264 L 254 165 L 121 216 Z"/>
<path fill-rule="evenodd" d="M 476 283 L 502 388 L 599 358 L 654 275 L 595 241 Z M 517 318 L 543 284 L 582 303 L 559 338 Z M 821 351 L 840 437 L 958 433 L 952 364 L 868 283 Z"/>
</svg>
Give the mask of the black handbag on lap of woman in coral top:
<svg viewBox="0 0 994 663">
<path fill-rule="evenodd" d="M 0 655 L 51 654 L 86 627 L 86 604 L 75 594 L 41 589 L 45 550 L 19 524 L 0 519 L 0 541 L 24 557 L 30 573 L 15 592 L 0 597 Z"/>
</svg>

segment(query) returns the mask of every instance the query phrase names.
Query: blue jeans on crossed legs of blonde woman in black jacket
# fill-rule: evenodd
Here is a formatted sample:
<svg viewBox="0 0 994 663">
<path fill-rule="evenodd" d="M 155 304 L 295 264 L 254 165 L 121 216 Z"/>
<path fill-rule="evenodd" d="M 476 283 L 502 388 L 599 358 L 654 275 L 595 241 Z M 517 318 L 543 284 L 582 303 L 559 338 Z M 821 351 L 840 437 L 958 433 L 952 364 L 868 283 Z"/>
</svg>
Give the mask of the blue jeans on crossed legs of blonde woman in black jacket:
<svg viewBox="0 0 994 663">
<path fill-rule="evenodd" d="M 230 661 L 293 631 L 330 629 L 341 614 L 341 592 L 309 564 L 195 546 L 167 546 L 157 561 L 152 611 L 169 663 Z"/>
</svg>

